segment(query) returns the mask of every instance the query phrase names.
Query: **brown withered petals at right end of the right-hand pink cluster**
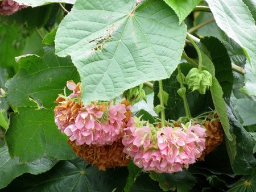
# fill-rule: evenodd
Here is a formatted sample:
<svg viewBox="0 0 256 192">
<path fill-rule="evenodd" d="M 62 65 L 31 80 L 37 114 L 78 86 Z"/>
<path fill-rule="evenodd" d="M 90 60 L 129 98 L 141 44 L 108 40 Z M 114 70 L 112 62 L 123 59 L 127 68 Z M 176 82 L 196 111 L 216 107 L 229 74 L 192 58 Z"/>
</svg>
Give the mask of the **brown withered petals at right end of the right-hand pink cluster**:
<svg viewBox="0 0 256 192">
<path fill-rule="evenodd" d="M 207 138 L 205 139 L 205 150 L 199 158 L 201 161 L 204 160 L 205 155 L 214 151 L 223 140 L 223 128 L 218 119 L 204 120 L 202 125 L 207 129 Z"/>
</svg>

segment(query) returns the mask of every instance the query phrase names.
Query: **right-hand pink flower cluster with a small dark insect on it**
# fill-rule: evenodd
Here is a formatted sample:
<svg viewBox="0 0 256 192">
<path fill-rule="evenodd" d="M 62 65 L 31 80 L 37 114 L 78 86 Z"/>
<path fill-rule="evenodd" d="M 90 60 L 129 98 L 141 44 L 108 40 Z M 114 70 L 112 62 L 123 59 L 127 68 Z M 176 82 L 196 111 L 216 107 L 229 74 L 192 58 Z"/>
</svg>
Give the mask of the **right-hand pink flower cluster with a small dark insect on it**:
<svg viewBox="0 0 256 192">
<path fill-rule="evenodd" d="M 122 139 L 123 152 L 144 170 L 173 173 L 195 163 L 205 148 L 205 128 L 199 124 L 183 128 L 153 126 L 136 127 L 134 120 L 127 123 Z"/>
</svg>

